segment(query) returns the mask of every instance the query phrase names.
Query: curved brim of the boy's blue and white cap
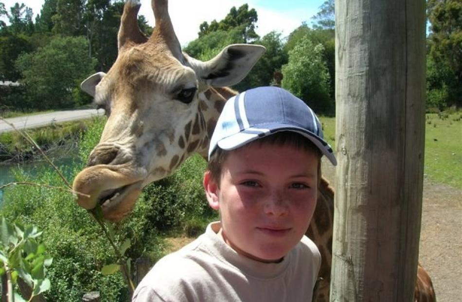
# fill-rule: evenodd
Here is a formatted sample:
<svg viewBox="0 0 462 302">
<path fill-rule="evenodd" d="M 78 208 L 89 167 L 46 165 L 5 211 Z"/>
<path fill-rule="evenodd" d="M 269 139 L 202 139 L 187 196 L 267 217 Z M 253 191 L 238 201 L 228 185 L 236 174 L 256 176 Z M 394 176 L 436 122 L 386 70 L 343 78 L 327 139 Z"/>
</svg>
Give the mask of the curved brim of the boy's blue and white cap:
<svg viewBox="0 0 462 302">
<path fill-rule="evenodd" d="M 243 145 L 255 141 L 259 138 L 281 132 L 292 131 L 299 133 L 314 143 L 323 155 L 325 155 L 334 166 L 337 165 L 337 160 L 330 145 L 312 132 L 306 131 L 303 128 L 288 126 L 287 124 L 265 124 L 263 127 L 250 127 L 244 131 L 235 133 L 217 142 L 217 145 L 223 150 L 233 150 Z"/>
</svg>

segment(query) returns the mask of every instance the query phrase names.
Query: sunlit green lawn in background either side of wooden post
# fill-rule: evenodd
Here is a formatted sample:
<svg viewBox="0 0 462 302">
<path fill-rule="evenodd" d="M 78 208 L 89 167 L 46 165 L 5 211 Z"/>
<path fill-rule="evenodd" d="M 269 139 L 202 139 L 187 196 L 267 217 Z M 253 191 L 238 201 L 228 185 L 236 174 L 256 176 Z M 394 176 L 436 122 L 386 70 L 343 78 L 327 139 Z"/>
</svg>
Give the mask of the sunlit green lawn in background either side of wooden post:
<svg viewBox="0 0 462 302">
<path fill-rule="evenodd" d="M 335 118 L 320 117 L 335 150 Z M 462 189 L 462 112 L 426 114 L 425 178 Z"/>
</svg>

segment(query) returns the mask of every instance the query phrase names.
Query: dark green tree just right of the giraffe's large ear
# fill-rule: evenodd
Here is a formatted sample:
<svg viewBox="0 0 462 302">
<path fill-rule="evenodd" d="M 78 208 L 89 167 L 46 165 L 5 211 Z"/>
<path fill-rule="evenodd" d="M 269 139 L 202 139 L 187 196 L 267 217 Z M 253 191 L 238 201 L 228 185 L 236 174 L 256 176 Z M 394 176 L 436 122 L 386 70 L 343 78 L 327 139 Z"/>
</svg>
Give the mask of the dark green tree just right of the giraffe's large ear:
<svg viewBox="0 0 462 302">
<path fill-rule="evenodd" d="M 268 86 L 273 81 L 274 72 L 280 71 L 281 67 L 287 63 L 288 56 L 284 51 L 280 33 L 270 32 L 256 40 L 255 44 L 265 46 L 266 51 L 246 78 L 235 85 L 234 89 L 244 91 L 253 87 Z"/>
</svg>

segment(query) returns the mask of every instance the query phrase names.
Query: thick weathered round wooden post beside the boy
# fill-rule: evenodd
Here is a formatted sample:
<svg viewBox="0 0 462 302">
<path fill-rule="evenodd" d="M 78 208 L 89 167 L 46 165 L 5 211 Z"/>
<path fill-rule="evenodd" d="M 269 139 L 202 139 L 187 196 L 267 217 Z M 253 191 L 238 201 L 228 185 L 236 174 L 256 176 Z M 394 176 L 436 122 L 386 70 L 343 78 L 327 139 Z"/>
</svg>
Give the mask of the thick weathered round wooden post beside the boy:
<svg viewBox="0 0 462 302">
<path fill-rule="evenodd" d="M 422 210 L 425 0 L 336 0 L 331 301 L 412 301 Z"/>
</svg>

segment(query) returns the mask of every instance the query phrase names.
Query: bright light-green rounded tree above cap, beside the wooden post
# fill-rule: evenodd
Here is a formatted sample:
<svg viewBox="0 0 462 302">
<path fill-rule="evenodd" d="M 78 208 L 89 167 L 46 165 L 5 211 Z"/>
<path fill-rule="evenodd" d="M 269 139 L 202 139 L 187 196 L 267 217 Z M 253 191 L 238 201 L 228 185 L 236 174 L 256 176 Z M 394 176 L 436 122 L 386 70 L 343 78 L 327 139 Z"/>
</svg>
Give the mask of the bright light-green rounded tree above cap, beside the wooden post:
<svg viewBox="0 0 462 302">
<path fill-rule="evenodd" d="M 330 76 L 323 53 L 322 44 L 314 46 L 307 37 L 302 37 L 289 52 L 289 61 L 282 68 L 282 87 L 301 98 L 316 113 L 330 114 L 334 102 L 329 95 Z"/>
</svg>

